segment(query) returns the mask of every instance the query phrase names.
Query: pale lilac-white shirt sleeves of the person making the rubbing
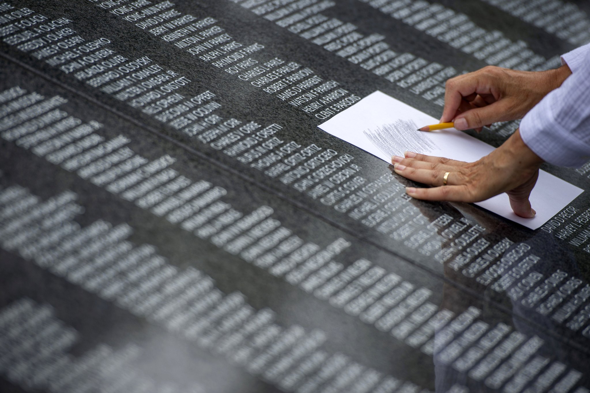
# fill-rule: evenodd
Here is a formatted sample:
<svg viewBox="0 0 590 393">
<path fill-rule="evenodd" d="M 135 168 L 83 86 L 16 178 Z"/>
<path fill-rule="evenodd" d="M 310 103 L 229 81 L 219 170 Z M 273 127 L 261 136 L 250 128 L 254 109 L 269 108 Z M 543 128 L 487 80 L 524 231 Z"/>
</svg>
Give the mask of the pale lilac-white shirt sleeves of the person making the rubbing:
<svg viewBox="0 0 590 393">
<path fill-rule="evenodd" d="M 550 164 L 579 167 L 590 160 L 590 44 L 562 56 L 572 74 L 520 122 L 520 137 Z"/>
</svg>

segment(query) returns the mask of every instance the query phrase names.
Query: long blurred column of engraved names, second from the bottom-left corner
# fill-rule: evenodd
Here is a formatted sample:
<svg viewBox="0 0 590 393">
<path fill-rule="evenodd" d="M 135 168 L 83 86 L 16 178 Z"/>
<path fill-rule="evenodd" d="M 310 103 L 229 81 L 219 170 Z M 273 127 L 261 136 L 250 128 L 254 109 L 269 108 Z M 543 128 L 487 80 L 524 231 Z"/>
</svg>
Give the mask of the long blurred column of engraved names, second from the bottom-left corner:
<svg viewBox="0 0 590 393">
<path fill-rule="evenodd" d="M 21 202 L 31 199 L 35 203 Z M 127 240 L 133 231 L 126 224 L 98 220 L 81 228 L 71 220 L 81 212 L 75 200 L 71 191 L 46 202 L 19 186 L 0 191 L 0 215 L 8 224 L 0 233 L 2 247 L 286 391 L 297 386 L 301 392 L 314 391 L 318 385 L 334 391 L 418 389 L 348 356 L 330 355 L 321 348 L 326 336 L 319 330 L 283 328 L 274 323 L 271 310 L 254 310 L 238 292 L 221 293 L 203 272 L 175 268 L 153 246 L 134 245 Z M 31 235 L 32 228 L 42 229 Z"/>
</svg>

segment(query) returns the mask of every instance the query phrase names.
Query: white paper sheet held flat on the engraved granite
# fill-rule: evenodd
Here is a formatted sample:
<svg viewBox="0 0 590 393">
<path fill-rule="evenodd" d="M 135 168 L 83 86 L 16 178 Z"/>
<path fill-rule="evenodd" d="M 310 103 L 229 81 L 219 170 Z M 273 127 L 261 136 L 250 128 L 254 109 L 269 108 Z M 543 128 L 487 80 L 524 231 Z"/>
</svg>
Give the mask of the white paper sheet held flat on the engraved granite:
<svg viewBox="0 0 590 393">
<path fill-rule="evenodd" d="M 403 156 L 404 151 L 471 162 L 494 149 L 456 129 L 416 131 L 418 127 L 437 123 L 438 119 L 376 91 L 320 124 L 319 128 L 388 163 L 391 163 L 392 155 Z M 476 204 L 527 228 L 537 229 L 582 191 L 565 180 L 540 171 L 539 180 L 530 194 L 530 203 L 537 212 L 534 218 L 515 215 L 506 194 Z"/>
</svg>

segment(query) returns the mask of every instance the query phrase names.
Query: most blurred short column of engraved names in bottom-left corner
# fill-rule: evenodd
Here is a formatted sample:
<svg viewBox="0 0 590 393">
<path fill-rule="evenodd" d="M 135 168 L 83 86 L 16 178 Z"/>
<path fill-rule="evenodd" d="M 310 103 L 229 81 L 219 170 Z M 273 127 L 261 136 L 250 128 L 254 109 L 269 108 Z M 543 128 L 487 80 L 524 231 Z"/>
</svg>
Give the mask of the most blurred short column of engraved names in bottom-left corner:
<svg viewBox="0 0 590 393">
<path fill-rule="evenodd" d="M 196 382 L 180 387 L 154 381 L 132 365 L 142 355 L 136 345 L 114 350 L 99 344 L 81 356 L 71 356 L 68 352 L 80 341 L 80 334 L 57 319 L 53 307 L 29 298 L 0 310 L 0 326 L 0 373 L 27 391 L 205 391 Z"/>
</svg>

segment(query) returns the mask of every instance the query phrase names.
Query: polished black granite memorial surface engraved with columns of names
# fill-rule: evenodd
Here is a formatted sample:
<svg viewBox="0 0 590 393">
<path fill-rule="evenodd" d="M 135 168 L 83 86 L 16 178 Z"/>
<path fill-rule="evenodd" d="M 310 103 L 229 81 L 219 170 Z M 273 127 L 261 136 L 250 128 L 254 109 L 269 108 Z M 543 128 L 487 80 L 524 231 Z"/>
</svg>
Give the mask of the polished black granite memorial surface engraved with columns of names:
<svg viewBox="0 0 590 393">
<path fill-rule="evenodd" d="M 587 393 L 587 192 L 529 230 L 411 200 L 317 128 L 375 90 L 438 116 L 449 77 L 557 67 L 586 12 L 0 2 L 0 391 Z"/>
</svg>

